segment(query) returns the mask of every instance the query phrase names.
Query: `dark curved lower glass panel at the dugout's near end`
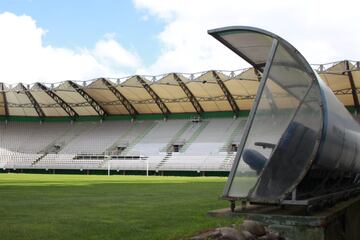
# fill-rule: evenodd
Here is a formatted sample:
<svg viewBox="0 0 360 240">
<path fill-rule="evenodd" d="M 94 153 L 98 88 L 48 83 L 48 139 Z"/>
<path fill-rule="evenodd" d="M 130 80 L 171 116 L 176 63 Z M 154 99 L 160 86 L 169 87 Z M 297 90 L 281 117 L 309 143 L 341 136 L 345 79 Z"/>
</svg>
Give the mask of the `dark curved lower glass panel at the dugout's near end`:
<svg viewBox="0 0 360 240">
<path fill-rule="evenodd" d="M 271 201 L 291 191 L 314 157 L 320 129 L 320 92 L 313 84 L 281 135 L 251 198 Z"/>
</svg>

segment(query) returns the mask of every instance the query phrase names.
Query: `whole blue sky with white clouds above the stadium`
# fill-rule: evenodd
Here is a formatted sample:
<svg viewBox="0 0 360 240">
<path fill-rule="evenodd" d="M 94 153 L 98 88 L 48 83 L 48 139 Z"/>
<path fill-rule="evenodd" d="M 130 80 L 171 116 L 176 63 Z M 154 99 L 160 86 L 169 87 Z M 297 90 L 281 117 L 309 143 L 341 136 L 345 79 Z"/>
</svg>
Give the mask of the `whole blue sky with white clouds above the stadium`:
<svg viewBox="0 0 360 240">
<path fill-rule="evenodd" d="M 310 63 L 360 60 L 360 3 L 280 0 L 1 0 L 0 82 L 26 84 L 248 65 L 207 34 L 274 32 Z"/>
</svg>

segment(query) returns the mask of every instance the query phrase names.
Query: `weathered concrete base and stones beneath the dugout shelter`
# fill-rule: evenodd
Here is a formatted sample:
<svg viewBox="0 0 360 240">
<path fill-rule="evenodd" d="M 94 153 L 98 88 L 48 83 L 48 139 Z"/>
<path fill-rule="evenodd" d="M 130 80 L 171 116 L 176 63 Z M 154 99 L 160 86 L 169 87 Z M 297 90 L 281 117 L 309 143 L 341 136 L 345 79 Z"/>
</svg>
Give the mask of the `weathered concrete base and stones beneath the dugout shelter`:
<svg viewBox="0 0 360 240">
<path fill-rule="evenodd" d="M 267 225 L 288 240 L 359 240 L 360 196 L 310 215 L 301 207 L 250 205 L 210 211 L 211 216 L 242 216 Z"/>
</svg>

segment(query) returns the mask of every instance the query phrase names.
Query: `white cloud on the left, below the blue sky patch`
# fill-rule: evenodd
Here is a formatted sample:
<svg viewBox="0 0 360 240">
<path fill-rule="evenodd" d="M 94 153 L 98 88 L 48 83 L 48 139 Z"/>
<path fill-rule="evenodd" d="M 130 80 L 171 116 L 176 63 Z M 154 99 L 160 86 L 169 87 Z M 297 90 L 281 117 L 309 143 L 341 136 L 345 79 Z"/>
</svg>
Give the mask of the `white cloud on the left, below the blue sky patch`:
<svg viewBox="0 0 360 240">
<path fill-rule="evenodd" d="M 111 34 L 93 49 L 45 46 L 46 31 L 34 19 L 8 12 L 0 14 L 0 33 L 0 81 L 5 83 L 117 77 L 141 65 L 137 54 L 127 51 Z"/>
</svg>

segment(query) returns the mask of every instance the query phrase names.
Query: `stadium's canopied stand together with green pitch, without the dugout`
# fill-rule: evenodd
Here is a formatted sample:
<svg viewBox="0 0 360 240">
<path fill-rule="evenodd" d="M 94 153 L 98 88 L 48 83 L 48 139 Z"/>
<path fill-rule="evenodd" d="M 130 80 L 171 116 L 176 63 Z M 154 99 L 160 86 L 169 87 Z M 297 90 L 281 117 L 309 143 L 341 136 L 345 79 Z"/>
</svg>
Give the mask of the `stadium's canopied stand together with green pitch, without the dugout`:
<svg viewBox="0 0 360 240">
<path fill-rule="evenodd" d="M 312 67 L 357 118 L 359 61 Z M 247 68 L 2 83 L 1 239 L 187 239 L 241 224 L 243 217 L 206 212 L 228 209 L 217 199 L 221 176 L 236 158 L 261 77 Z M 271 142 L 274 131 L 262 139 Z M 244 162 L 238 169 L 249 187 L 253 170 Z"/>
</svg>

